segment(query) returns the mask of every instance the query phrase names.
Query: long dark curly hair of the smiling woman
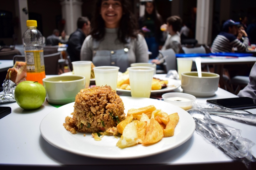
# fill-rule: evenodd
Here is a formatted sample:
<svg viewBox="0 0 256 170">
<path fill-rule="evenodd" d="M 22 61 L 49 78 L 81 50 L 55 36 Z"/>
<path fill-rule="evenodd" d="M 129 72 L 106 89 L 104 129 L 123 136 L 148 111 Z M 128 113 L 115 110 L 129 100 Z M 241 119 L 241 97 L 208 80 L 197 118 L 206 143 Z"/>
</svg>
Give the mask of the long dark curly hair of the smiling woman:
<svg viewBox="0 0 256 170">
<path fill-rule="evenodd" d="M 101 40 L 105 36 L 105 21 L 100 15 L 101 10 L 101 2 L 102 0 L 97 0 L 94 9 L 94 15 L 91 21 L 91 36 L 96 40 Z M 137 38 L 138 34 L 138 26 L 137 26 L 137 19 L 133 15 L 132 11 L 130 10 L 130 2 L 129 0 L 120 0 L 122 9 L 123 9 L 123 16 L 119 23 L 119 28 L 117 32 L 117 38 L 120 42 L 126 44 L 127 38 Z"/>
</svg>

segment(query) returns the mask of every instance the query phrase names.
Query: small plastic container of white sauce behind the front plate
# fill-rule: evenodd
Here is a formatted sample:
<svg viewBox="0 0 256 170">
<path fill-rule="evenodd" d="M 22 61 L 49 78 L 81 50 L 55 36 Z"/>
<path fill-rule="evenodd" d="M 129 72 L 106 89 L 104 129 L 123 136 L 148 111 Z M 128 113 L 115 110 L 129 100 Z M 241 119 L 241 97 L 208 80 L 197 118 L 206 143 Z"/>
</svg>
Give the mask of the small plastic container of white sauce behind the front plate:
<svg viewBox="0 0 256 170">
<path fill-rule="evenodd" d="M 185 111 L 192 108 L 196 97 L 186 93 L 166 93 L 162 95 L 165 102 L 174 104 Z"/>
</svg>

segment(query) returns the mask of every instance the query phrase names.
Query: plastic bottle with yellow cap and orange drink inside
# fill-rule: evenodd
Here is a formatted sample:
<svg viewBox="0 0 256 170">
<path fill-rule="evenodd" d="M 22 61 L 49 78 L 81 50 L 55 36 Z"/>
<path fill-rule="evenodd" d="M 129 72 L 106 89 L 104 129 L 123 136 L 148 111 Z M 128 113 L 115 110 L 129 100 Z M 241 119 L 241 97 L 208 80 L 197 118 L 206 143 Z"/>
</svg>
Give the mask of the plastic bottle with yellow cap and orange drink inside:
<svg viewBox="0 0 256 170">
<path fill-rule="evenodd" d="M 46 77 L 44 71 L 43 36 L 36 29 L 37 21 L 27 20 L 28 29 L 23 34 L 25 60 L 27 66 L 27 80 L 38 81 L 43 84 Z"/>
</svg>

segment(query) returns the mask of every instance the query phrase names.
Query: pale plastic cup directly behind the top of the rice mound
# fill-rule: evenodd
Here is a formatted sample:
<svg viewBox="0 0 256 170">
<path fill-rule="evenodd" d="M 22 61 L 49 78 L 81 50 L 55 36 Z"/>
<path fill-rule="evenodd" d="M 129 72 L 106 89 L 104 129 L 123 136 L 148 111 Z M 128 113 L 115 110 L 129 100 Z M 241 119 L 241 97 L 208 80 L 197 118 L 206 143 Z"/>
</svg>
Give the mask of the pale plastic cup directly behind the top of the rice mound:
<svg viewBox="0 0 256 170">
<path fill-rule="evenodd" d="M 113 90 L 117 88 L 117 75 L 120 68 L 116 66 L 94 67 L 96 86 L 110 86 Z"/>
</svg>

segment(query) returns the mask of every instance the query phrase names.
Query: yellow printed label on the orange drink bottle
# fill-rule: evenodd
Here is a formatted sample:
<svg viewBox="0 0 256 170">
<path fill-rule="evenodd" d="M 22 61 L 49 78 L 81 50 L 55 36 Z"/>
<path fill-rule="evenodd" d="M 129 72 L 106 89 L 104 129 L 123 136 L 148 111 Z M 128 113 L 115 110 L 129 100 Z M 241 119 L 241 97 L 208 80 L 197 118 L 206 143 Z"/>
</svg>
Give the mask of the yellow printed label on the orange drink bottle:
<svg viewBox="0 0 256 170">
<path fill-rule="evenodd" d="M 43 50 L 25 51 L 27 72 L 44 72 Z"/>
</svg>

